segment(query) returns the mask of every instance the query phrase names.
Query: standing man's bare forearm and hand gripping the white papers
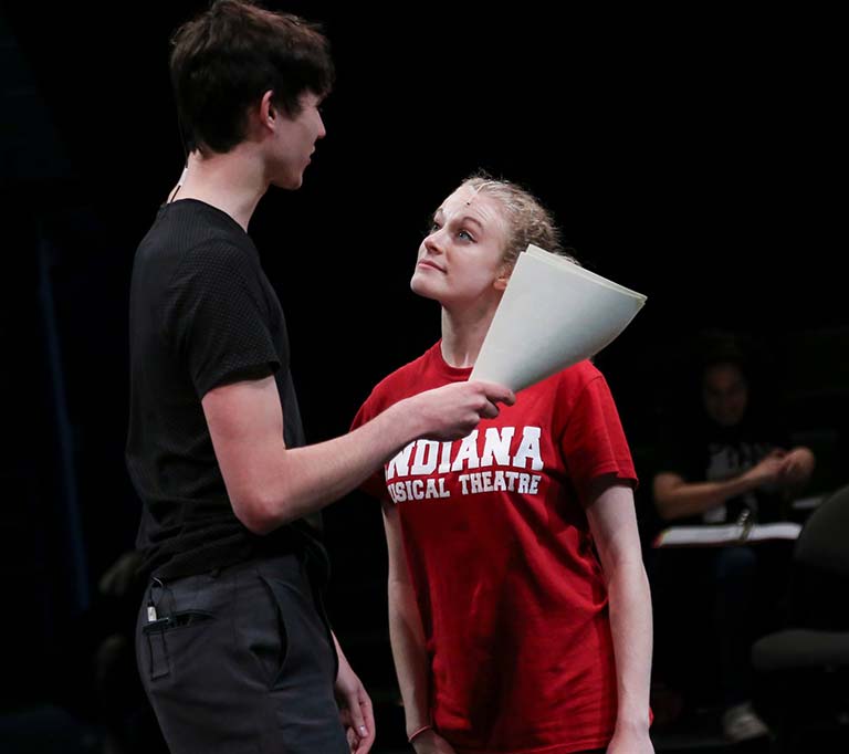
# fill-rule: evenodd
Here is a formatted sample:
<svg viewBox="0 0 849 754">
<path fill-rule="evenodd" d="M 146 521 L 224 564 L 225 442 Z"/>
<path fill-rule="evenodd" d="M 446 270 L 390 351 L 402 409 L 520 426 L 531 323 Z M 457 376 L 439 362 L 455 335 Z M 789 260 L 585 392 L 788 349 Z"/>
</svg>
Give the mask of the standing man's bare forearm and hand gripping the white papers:
<svg viewBox="0 0 849 754">
<path fill-rule="evenodd" d="M 420 437 L 454 440 L 496 404 L 515 396 L 490 383 L 454 383 L 406 398 L 353 432 L 303 448 L 286 448 L 273 377 L 233 383 L 203 396 L 203 413 L 237 517 L 253 533 L 317 511 L 358 486 Z"/>
</svg>

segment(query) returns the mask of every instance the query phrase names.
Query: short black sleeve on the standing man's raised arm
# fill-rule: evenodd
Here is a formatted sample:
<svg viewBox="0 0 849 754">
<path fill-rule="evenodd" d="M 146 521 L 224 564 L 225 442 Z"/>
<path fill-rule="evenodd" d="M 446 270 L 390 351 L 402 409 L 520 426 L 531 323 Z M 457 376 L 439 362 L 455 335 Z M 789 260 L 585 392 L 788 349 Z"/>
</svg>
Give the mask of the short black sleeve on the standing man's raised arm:
<svg viewBox="0 0 849 754">
<path fill-rule="evenodd" d="M 203 244 L 180 263 L 168 286 L 165 337 L 186 364 L 198 397 L 281 366 L 259 262 L 245 251 Z"/>
</svg>

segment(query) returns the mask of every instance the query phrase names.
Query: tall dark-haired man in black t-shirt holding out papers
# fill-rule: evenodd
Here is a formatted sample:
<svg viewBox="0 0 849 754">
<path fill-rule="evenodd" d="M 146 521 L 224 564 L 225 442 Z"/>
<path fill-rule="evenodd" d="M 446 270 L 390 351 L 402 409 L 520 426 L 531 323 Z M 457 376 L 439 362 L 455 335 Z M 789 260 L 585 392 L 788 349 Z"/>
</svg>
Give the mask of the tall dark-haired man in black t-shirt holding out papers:
<svg viewBox="0 0 849 754">
<path fill-rule="evenodd" d="M 283 312 L 247 228 L 269 186 L 301 186 L 325 134 L 327 41 L 220 0 L 174 44 L 192 155 L 130 292 L 127 465 L 150 575 L 139 670 L 174 754 L 365 754 L 371 705 L 322 608 L 316 513 L 411 440 L 463 437 L 513 395 L 452 385 L 304 447 Z"/>
</svg>

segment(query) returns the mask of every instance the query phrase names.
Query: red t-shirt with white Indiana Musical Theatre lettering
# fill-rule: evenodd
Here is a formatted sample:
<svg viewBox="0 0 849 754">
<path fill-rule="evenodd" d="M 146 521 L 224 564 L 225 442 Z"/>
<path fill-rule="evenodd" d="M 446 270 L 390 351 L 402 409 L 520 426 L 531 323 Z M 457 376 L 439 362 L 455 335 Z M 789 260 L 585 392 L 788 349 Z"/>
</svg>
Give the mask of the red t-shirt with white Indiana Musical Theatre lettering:
<svg viewBox="0 0 849 754">
<path fill-rule="evenodd" d="M 384 379 L 357 427 L 465 380 L 440 344 Z M 518 392 L 463 440 L 417 440 L 365 488 L 397 504 L 430 658 L 431 715 L 458 752 L 567 754 L 616 722 L 607 590 L 580 494 L 636 482 L 601 373 L 583 362 Z"/>
</svg>

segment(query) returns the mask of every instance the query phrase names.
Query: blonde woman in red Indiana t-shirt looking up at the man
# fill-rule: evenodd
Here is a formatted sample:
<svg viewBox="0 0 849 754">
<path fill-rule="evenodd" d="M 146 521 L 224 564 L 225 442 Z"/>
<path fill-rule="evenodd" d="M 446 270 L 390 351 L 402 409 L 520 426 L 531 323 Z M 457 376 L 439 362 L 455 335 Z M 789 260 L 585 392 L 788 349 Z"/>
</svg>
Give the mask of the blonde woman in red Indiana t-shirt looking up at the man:
<svg viewBox="0 0 849 754">
<path fill-rule="evenodd" d="M 528 243 L 558 232 L 507 181 L 465 180 L 433 216 L 411 287 L 442 338 L 384 379 L 355 427 L 467 380 Z M 390 637 L 418 754 L 652 752 L 651 605 L 633 464 L 589 362 L 452 442 L 417 440 L 366 489 L 384 501 Z"/>
</svg>

